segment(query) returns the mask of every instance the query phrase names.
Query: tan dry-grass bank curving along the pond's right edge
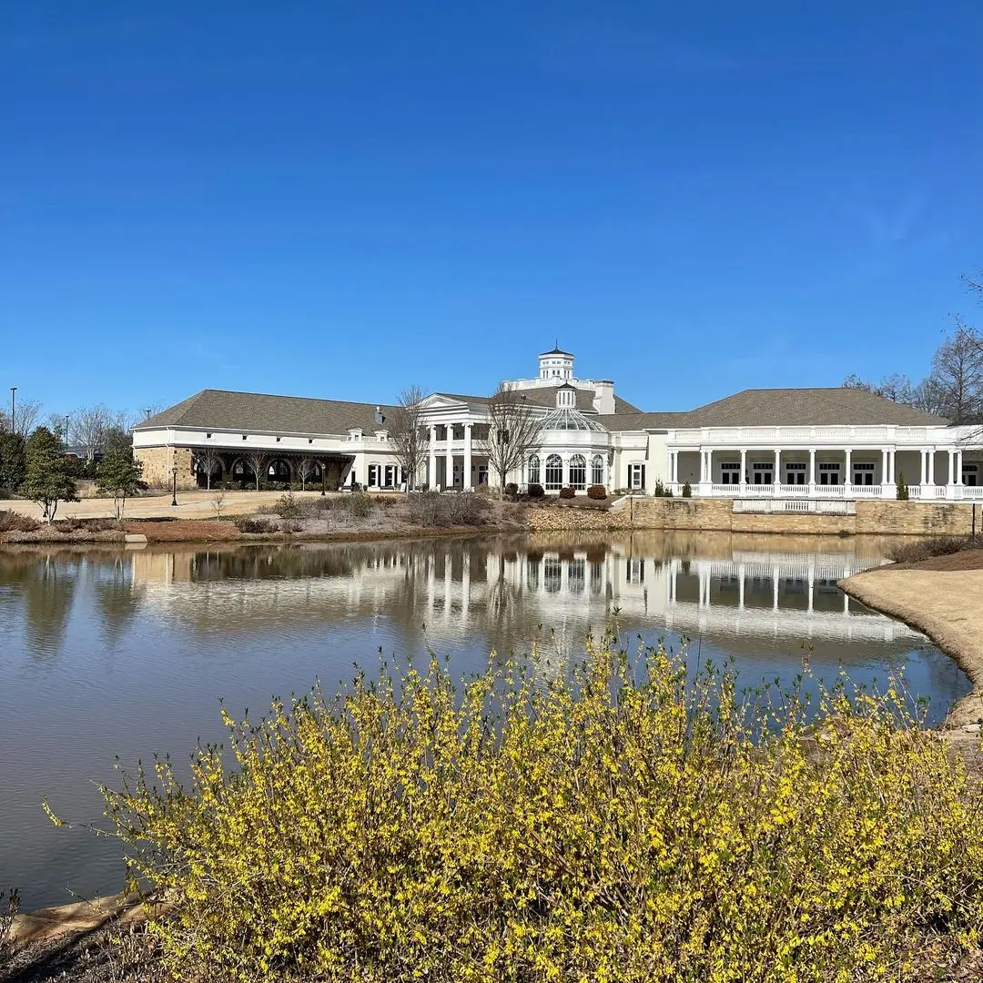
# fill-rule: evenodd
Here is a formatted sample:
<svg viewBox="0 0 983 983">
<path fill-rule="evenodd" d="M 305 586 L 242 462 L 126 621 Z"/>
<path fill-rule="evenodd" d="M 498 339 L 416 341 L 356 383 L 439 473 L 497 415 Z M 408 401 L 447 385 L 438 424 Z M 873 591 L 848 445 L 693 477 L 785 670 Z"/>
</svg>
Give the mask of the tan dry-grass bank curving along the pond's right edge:
<svg viewBox="0 0 983 983">
<path fill-rule="evenodd" d="M 955 660 L 974 689 L 954 706 L 945 726 L 974 732 L 983 721 L 983 569 L 926 564 L 865 570 L 839 586 L 867 607 L 925 632 Z"/>
</svg>

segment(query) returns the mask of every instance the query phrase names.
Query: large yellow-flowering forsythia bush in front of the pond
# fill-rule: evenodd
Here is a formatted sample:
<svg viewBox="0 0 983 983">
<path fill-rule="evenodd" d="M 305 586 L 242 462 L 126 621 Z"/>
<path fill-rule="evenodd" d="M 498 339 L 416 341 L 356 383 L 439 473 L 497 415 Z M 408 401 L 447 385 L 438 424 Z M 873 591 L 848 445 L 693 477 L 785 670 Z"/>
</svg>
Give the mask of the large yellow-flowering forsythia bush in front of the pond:
<svg viewBox="0 0 983 983">
<path fill-rule="evenodd" d="M 977 944 L 980 796 L 891 691 L 806 723 L 611 640 L 455 689 L 357 678 L 226 716 L 106 791 L 182 979 L 903 979 L 926 940 Z"/>
</svg>

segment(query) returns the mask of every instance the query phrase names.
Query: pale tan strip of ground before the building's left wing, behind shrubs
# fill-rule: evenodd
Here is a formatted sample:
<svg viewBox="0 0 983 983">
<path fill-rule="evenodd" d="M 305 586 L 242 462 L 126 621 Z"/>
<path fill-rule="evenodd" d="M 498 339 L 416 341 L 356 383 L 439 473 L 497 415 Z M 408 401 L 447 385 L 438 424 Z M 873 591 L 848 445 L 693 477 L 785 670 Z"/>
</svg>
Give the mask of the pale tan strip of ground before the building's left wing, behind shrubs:
<svg viewBox="0 0 983 983">
<path fill-rule="evenodd" d="M 320 492 L 294 492 L 298 498 L 316 498 Z M 277 500 L 281 492 L 225 492 L 222 515 L 246 515 L 255 512 L 260 505 Z M 215 492 L 178 492 L 177 506 L 171 505 L 171 494 L 145 495 L 128 498 L 127 519 L 213 519 Z M 41 517 L 36 502 L 22 498 L 0 499 L 0 511 L 20 512 L 32 519 Z M 58 504 L 58 519 L 112 519 L 115 518 L 112 498 L 83 498 L 81 501 L 63 501 Z"/>
</svg>

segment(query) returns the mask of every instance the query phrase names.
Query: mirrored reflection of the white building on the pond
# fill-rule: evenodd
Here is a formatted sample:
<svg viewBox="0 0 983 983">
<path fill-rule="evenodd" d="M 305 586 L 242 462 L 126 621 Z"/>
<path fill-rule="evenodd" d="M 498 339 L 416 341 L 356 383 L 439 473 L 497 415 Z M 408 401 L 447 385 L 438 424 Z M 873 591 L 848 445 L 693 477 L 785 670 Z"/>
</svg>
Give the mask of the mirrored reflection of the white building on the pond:
<svg viewBox="0 0 983 983">
<path fill-rule="evenodd" d="M 352 617 L 402 626 L 411 650 L 468 638 L 527 648 L 541 626 L 560 646 L 604 629 L 661 627 L 695 637 L 877 642 L 908 651 L 907 626 L 848 599 L 837 581 L 882 560 L 857 552 L 733 549 L 673 555 L 631 540 L 581 546 L 430 541 L 349 546 L 143 551 L 135 584 L 160 613 L 226 631 L 282 631 Z M 838 651 L 848 657 L 848 648 Z"/>
</svg>

